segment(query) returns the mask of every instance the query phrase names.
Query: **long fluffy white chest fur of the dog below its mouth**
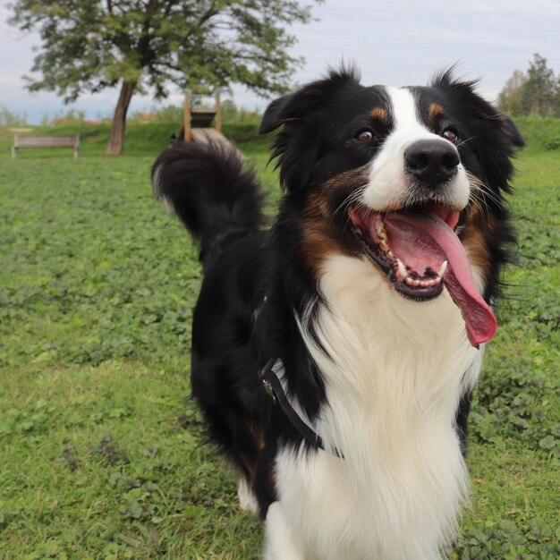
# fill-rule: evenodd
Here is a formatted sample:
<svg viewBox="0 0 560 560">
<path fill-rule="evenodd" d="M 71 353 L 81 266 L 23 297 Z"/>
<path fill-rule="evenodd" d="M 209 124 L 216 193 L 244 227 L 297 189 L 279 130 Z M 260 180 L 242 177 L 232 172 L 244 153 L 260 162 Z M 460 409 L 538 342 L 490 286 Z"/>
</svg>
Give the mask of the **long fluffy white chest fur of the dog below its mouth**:
<svg viewBox="0 0 560 560">
<path fill-rule="evenodd" d="M 328 356 L 301 332 L 326 381 L 315 428 L 344 459 L 278 455 L 267 558 L 435 560 L 468 494 L 454 422 L 482 351 L 446 292 L 407 301 L 365 259 L 329 258 L 319 287 Z"/>
</svg>

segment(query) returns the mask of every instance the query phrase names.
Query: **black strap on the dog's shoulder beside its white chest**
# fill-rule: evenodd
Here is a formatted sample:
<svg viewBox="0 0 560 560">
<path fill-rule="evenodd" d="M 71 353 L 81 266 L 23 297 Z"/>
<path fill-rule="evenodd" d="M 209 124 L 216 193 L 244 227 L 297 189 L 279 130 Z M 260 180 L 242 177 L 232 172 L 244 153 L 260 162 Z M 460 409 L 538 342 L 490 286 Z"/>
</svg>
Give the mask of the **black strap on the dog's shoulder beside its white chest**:
<svg viewBox="0 0 560 560">
<path fill-rule="evenodd" d="M 325 449 L 325 444 L 323 443 L 323 438 L 318 435 L 318 433 L 310 428 L 310 425 L 301 419 L 301 416 L 296 412 L 290 403 L 288 396 L 285 394 L 284 386 L 280 380 L 279 375 L 284 372 L 284 364 L 280 358 L 270 358 L 263 369 L 260 370 L 259 378 L 262 385 L 267 392 L 267 395 L 273 400 L 274 403 L 278 403 L 282 412 L 284 412 L 285 417 L 290 420 L 293 428 L 300 432 L 301 436 L 305 441 L 315 447 L 316 449 Z M 334 454 L 336 457 L 344 459 L 344 454 L 336 447 L 329 447 L 328 451 Z"/>
</svg>

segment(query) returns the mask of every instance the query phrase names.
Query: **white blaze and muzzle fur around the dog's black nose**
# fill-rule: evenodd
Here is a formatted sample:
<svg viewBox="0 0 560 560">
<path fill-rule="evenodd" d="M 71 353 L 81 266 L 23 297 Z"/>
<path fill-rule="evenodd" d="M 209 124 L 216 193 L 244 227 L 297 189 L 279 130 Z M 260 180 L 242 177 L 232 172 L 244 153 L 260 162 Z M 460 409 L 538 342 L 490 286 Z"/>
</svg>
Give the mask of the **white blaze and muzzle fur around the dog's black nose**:
<svg viewBox="0 0 560 560">
<path fill-rule="evenodd" d="M 409 89 L 386 88 L 395 115 L 395 129 L 383 142 L 372 162 L 369 185 L 361 201 L 374 210 L 384 211 L 406 206 L 410 192 L 410 179 L 404 170 L 404 151 L 417 140 L 446 142 L 430 132 L 420 122 L 416 100 Z M 453 144 L 449 144 L 453 146 Z M 470 185 L 462 164 L 445 189 L 445 203 L 453 208 L 464 208 L 469 201 Z"/>
</svg>

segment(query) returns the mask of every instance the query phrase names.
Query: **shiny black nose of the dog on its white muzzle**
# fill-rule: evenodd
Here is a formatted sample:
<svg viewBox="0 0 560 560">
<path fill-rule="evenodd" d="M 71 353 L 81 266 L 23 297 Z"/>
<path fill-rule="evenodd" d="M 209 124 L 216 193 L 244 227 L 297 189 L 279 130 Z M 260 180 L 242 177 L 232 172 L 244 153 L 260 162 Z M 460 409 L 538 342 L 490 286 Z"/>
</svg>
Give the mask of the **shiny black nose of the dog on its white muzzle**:
<svg viewBox="0 0 560 560">
<path fill-rule="evenodd" d="M 431 187 L 449 181 L 461 160 L 446 140 L 417 140 L 404 151 L 406 170 Z"/>
</svg>

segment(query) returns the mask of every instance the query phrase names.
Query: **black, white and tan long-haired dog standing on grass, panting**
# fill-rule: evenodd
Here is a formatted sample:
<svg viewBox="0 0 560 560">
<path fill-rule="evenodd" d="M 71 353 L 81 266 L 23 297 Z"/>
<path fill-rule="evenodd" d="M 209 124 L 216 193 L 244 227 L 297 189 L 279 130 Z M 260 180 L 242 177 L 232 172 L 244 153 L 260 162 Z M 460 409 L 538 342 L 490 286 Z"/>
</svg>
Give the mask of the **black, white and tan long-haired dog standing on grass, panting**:
<svg viewBox="0 0 560 560">
<path fill-rule="evenodd" d="M 200 246 L 192 393 L 267 560 L 445 557 L 522 135 L 453 70 L 396 89 L 352 67 L 273 101 L 273 131 L 269 229 L 233 150 L 182 143 L 152 170 Z"/>
</svg>

